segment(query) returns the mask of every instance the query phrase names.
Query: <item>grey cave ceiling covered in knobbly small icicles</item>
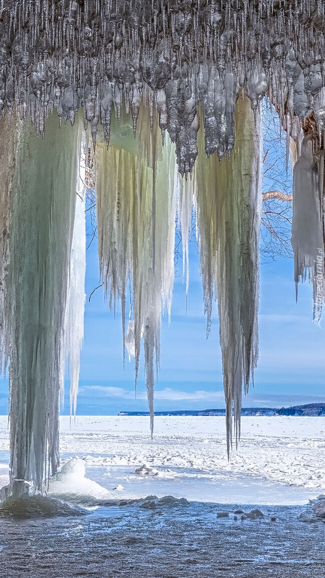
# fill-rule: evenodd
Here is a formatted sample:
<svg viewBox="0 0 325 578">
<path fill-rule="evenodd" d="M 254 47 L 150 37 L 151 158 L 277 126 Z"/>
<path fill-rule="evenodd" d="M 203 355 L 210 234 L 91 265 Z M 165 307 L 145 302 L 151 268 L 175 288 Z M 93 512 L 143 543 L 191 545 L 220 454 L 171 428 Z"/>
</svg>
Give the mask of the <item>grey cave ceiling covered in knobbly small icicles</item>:
<svg viewBox="0 0 325 578">
<path fill-rule="evenodd" d="M 43 134 L 53 106 L 72 123 L 83 106 L 109 142 L 112 106 L 134 129 L 141 101 L 176 143 L 179 171 L 197 156 L 198 105 L 208 155 L 230 154 L 245 88 L 323 128 L 323 0 L 1 0 L 0 112 L 19 103 Z"/>
</svg>

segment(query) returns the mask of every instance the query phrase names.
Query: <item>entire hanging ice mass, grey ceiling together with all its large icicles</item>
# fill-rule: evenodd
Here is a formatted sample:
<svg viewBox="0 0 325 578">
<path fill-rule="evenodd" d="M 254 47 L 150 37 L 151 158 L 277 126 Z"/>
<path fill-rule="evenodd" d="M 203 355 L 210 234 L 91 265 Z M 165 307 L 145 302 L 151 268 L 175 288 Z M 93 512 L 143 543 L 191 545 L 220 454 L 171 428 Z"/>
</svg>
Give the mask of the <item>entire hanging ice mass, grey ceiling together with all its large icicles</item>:
<svg viewBox="0 0 325 578">
<path fill-rule="evenodd" d="M 246 391 L 257 360 L 265 95 L 287 131 L 287 155 L 291 147 L 296 157 L 295 276 L 297 283 L 309 273 L 319 320 L 324 22 L 322 0 L 0 0 L 0 338 L 2 366 L 10 360 L 18 493 L 24 480 L 42 488 L 46 462 L 57 470 L 65 350 L 75 412 L 82 115 L 86 157 L 88 139 L 94 145 L 100 275 L 112 309 L 121 302 L 135 377 L 143 338 L 151 428 L 177 214 L 187 288 L 189 227 L 197 220 L 207 333 L 217 294 L 228 447 L 232 413 L 240 433 L 242 384 Z"/>
</svg>

